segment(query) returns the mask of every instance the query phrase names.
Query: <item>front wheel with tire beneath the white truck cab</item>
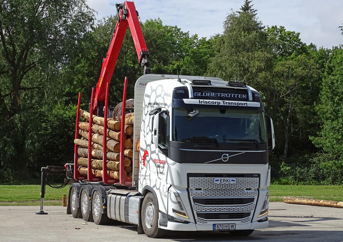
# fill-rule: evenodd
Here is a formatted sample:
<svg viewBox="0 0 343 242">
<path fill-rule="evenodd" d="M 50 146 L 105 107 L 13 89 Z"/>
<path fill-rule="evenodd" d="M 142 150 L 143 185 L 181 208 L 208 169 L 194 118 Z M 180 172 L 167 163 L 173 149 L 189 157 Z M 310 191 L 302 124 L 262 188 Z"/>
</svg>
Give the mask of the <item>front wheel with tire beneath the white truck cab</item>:
<svg viewBox="0 0 343 242">
<path fill-rule="evenodd" d="M 143 231 L 147 237 L 161 238 L 166 234 L 166 230 L 158 228 L 157 201 L 155 201 L 155 197 L 151 192 L 144 197 L 141 220 Z"/>
</svg>

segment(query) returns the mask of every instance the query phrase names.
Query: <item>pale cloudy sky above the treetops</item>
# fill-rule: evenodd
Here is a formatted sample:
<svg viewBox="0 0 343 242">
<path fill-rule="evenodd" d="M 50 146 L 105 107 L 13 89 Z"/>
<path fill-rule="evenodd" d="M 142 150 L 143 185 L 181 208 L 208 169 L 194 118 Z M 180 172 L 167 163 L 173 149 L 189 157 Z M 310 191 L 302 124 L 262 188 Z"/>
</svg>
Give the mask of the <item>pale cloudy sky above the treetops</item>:
<svg viewBox="0 0 343 242">
<path fill-rule="evenodd" d="M 122 0 L 123 1 L 123 0 Z M 116 15 L 120 0 L 88 0 L 96 18 Z M 223 22 L 231 9 L 239 10 L 244 0 L 135 0 L 140 20 L 161 18 L 163 25 L 177 26 L 190 35 L 211 37 L 223 33 Z M 300 32 L 303 42 L 319 48 L 343 44 L 338 26 L 343 23 L 343 0 L 253 0 L 253 8 L 265 26 L 284 26 Z"/>
</svg>

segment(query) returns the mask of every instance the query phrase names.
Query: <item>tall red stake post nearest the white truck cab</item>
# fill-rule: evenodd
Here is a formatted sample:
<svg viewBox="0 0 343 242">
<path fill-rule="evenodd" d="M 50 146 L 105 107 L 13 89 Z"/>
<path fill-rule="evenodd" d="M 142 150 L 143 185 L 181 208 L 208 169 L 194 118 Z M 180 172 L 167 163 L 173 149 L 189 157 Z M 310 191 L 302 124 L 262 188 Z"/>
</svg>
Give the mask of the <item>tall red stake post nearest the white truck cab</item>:
<svg viewBox="0 0 343 242">
<path fill-rule="evenodd" d="M 120 184 L 123 186 L 132 186 L 132 180 L 125 176 L 124 170 L 124 127 L 125 127 L 125 107 L 126 107 L 126 89 L 127 89 L 128 78 L 125 77 L 124 81 L 124 92 L 123 92 L 123 106 L 121 110 L 121 131 L 120 131 Z"/>
</svg>

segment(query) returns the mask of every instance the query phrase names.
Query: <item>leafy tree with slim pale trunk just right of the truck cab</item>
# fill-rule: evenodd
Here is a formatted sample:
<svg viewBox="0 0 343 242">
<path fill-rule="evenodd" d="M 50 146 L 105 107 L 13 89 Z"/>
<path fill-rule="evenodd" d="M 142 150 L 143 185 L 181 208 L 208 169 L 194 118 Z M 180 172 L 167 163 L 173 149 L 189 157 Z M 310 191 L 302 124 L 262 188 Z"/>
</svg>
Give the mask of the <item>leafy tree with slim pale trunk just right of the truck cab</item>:
<svg viewBox="0 0 343 242">
<path fill-rule="evenodd" d="M 274 121 L 277 152 L 284 158 L 315 147 L 309 135 L 318 130 L 313 103 L 318 100 L 323 55 L 283 26 L 265 29 L 273 53 L 272 67 L 259 78 L 259 90 L 267 113 Z M 290 152 L 291 151 L 291 152 Z"/>
</svg>

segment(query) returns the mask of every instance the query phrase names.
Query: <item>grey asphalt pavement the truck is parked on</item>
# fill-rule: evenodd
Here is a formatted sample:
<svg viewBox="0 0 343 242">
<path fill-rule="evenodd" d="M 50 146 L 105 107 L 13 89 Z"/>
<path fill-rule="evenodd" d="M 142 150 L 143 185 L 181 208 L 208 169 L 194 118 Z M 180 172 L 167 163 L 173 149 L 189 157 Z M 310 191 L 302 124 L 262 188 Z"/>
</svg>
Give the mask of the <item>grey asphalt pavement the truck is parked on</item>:
<svg viewBox="0 0 343 242">
<path fill-rule="evenodd" d="M 0 206 L 0 241 L 343 241 L 343 208 L 270 203 L 269 228 L 255 230 L 248 237 L 170 231 L 158 240 L 138 235 L 134 225 L 116 222 L 104 226 L 75 219 L 66 214 L 66 207 L 44 206 L 47 215 L 36 215 L 39 210 L 39 206 Z"/>
</svg>

